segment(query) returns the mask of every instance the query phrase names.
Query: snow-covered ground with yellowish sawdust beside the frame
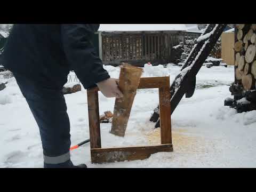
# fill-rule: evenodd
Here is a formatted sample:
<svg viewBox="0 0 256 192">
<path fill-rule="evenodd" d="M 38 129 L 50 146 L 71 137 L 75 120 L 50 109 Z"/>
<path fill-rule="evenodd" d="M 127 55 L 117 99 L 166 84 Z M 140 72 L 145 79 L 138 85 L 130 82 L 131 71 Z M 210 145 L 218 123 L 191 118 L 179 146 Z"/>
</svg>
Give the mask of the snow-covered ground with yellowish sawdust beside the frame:
<svg viewBox="0 0 256 192">
<path fill-rule="evenodd" d="M 111 77 L 119 68 L 105 66 Z M 180 67 L 169 64 L 144 68 L 144 77 L 169 76 L 172 82 Z M 70 73 L 69 83 L 75 75 Z M 157 153 L 143 161 L 91 164 L 90 144 L 71 151 L 74 164 L 89 167 L 256 167 L 256 111 L 237 114 L 223 106 L 230 97 L 233 67 L 202 67 L 192 98 L 183 98 L 172 115 L 172 153 Z M 4 79 L 0 81 L 5 82 Z M 25 98 L 10 78 L 0 92 L 0 167 L 43 167 L 39 131 Z M 72 81 L 72 82 L 71 82 Z M 86 90 L 65 95 L 71 124 L 72 145 L 89 138 Z M 99 93 L 100 114 L 114 108 L 115 99 Z M 102 147 L 159 143 L 159 129 L 149 122 L 158 103 L 156 89 L 138 90 L 124 138 L 109 133 L 101 124 Z"/>
</svg>

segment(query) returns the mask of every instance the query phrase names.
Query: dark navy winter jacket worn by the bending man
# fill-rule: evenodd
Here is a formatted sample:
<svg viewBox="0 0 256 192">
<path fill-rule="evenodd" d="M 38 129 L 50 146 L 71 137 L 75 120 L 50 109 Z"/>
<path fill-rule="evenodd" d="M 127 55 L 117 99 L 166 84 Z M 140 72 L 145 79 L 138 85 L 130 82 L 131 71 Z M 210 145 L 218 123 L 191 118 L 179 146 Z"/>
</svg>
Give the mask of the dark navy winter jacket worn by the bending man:
<svg viewBox="0 0 256 192">
<path fill-rule="evenodd" d="M 95 52 L 96 24 L 14 25 L 5 44 L 2 64 L 14 73 L 47 86 L 62 86 L 74 70 L 85 89 L 109 78 Z"/>
</svg>

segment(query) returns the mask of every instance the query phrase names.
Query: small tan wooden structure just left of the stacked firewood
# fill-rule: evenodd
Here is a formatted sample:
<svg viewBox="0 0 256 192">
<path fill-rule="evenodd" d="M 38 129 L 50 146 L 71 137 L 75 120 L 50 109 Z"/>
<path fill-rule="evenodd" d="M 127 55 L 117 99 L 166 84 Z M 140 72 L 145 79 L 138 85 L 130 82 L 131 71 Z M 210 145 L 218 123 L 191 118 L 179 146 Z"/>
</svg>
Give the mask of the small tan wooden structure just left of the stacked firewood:
<svg viewBox="0 0 256 192">
<path fill-rule="evenodd" d="M 234 28 L 225 31 L 221 35 L 221 58 L 223 62 L 227 63 L 227 65 L 235 64 L 235 52 L 234 52 L 234 44 L 235 44 L 235 33 Z"/>
</svg>

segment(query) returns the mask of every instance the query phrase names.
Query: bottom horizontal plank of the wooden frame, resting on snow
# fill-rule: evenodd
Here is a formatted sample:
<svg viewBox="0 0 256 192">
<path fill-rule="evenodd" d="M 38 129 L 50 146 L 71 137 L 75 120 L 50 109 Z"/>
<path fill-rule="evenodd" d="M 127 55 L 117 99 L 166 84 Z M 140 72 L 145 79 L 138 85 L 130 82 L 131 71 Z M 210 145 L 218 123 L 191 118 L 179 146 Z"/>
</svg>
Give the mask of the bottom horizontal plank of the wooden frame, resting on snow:
<svg viewBox="0 0 256 192">
<path fill-rule="evenodd" d="M 149 158 L 151 154 L 173 151 L 172 144 L 158 146 L 113 147 L 91 149 L 92 163 L 134 161 Z"/>
</svg>

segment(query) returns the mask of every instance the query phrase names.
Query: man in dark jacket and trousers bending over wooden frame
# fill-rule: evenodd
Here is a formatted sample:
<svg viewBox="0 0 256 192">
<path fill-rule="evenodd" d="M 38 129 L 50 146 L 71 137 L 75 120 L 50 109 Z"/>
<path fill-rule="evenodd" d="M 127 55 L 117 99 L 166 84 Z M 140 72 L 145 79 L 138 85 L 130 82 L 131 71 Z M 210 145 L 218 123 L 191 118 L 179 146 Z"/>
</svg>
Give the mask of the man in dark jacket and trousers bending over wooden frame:
<svg viewBox="0 0 256 192">
<path fill-rule="evenodd" d="M 92 44 L 98 29 L 94 24 L 14 25 L 5 45 L 2 62 L 13 72 L 38 124 L 44 167 L 77 167 L 70 160 L 70 123 L 62 94 L 70 70 L 85 89 L 98 86 L 106 97 L 123 97 Z"/>
</svg>

